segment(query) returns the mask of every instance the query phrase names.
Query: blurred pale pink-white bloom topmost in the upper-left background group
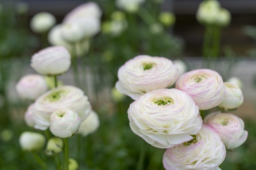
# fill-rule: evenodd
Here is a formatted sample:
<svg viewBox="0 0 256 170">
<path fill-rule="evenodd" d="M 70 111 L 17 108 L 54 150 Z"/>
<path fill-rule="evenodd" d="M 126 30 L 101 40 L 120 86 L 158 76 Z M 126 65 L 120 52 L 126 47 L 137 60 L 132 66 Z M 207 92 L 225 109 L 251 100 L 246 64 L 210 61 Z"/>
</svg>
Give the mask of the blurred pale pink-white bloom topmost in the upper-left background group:
<svg viewBox="0 0 256 170">
<path fill-rule="evenodd" d="M 85 17 L 97 17 L 101 18 L 102 10 L 99 8 L 98 4 L 95 2 L 87 2 L 75 7 L 72 11 L 70 11 L 63 22 L 72 22 L 73 20 Z"/>
</svg>

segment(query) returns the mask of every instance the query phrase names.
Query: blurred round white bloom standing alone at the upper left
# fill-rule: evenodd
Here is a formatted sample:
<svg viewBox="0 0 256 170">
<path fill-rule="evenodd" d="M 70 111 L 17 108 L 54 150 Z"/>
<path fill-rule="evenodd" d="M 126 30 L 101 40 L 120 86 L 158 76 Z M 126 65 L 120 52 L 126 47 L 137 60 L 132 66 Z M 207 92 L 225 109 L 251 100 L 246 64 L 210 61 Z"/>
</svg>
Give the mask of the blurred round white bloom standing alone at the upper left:
<svg viewBox="0 0 256 170">
<path fill-rule="evenodd" d="M 45 33 L 56 24 L 54 15 L 48 12 L 35 14 L 30 21 L 30 28 L 35 33 Z"/>
</svg>

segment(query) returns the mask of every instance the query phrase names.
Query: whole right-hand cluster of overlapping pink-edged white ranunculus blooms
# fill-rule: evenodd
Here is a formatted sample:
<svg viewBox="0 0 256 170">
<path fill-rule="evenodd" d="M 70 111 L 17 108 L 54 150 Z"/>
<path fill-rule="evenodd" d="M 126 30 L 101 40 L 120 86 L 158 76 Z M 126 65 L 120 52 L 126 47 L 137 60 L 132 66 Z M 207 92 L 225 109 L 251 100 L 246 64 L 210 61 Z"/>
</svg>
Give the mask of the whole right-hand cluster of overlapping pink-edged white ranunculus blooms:
<svg viewBox="0 0 256 170">
<path fill-rule="evenodd" d="M 128 109 L 131 130 L 147 143 L 167 149 L 167 170 L 218 169 L 226 149 L 244 143 L 248 132 L 233 114 L 211 113 L 202 122 L 201 112 L 217 106 L 224 111 L 238 108 L 242 91 L 210 69 L 192 70 L 177 79 L 185 64 L 175 63 L 141 55 L 119 69 L 117 90 L 135 99 Z M 166 89 L 175 81 L 176 89 Z"/>
</svg>

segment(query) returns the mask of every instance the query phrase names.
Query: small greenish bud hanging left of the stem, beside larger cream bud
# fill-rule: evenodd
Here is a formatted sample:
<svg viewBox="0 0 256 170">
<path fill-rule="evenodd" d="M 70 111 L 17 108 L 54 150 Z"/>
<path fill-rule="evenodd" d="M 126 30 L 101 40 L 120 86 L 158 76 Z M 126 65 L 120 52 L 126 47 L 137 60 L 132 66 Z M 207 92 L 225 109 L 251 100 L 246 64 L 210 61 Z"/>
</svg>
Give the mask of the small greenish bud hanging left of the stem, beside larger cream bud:
<svg viewBox="0 0 256 170">
<path fill-rule="evenodd" d="M 49 139 L 46 145 L 46 154 L 52 155 L 54 153 L 59 153 L 63 149 L 63 140 L 59 137 L 52 137 Z"/>
</svg>

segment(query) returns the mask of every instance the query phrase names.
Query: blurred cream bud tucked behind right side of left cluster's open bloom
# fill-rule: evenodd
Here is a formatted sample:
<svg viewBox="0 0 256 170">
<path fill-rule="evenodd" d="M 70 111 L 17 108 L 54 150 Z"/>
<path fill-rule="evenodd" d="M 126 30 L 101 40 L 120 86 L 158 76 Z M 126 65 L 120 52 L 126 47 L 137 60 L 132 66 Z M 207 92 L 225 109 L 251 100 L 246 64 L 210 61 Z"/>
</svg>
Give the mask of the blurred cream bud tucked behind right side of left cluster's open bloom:
<svg viewBox="0 0 256 170">
<path fill-rule="evenodd" d="M 78 134 L 82 136 L 87 136 L 90 133 L 94 133 L 99 128 L 99 117 L 97 113 L 91 110 L 88 117 L 81 122 Z"/>
</svg>

